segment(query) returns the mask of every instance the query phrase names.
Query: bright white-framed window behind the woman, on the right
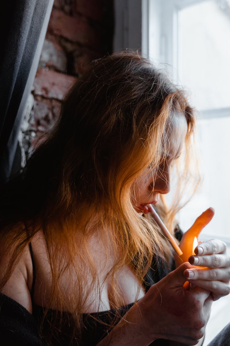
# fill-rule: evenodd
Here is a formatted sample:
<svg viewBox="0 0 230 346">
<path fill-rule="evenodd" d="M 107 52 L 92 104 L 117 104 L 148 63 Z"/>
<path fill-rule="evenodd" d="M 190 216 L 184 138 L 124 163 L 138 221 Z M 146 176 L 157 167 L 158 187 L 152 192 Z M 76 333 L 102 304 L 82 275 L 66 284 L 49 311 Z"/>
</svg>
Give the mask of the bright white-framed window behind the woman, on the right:
<svg viewBox="0 0 230 346">
<path fill-rule="evenodd" d="M 200 239 L 218 237 L 230 251 L 230 0 L 142 3 L 142 21 L 148 23 L 148 44 L 142 50 L 186 87 L 198 110 L 204 182 L 181 211 L 180 225 L 187 230 L 202 211 L 213 207 L 215 216 Z M 204 346 L 230 321 L 229 308 L 229 296 L 213 304 Z"/>
</svg>

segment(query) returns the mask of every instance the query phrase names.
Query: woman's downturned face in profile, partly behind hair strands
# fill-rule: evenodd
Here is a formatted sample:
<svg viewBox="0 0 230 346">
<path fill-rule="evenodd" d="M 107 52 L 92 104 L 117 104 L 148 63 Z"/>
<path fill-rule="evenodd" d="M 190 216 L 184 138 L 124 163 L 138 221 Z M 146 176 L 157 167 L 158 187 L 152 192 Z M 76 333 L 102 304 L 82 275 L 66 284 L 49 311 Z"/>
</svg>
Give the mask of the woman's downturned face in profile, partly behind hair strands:
<svg viewBox="0 0 230 346">
<path fill-rule="evenodd" d="M 156 204 L 160 194 L 170 191 L 170 166 L 180 156 L 187 133 L 187 121 L 183 114 L 176 113 L 169 125 L 169 151 L 158 170 L 143 172 L 134 188 L 133 207 L 137 212 L 147 212 L 147 204 Z"/>
</svg>

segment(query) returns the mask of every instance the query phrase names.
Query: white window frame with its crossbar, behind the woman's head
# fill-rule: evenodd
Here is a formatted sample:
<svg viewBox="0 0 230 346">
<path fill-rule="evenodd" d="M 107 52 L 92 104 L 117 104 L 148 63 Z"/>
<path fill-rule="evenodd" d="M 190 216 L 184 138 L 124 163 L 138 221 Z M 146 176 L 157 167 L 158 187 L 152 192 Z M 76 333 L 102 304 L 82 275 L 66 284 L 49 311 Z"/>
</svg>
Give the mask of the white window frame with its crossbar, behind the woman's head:
<svg viewBox="0 0 230 346">
<path fill-rule="evenodd" d="M 145 21 L 143 18 L 147 18 L 149 33 L 148 43 L 146 44 L 142 40 L 142 49 L 145 53 L 148 52 L 147 55 L 150 59 L 154 56 L 154 62 L 157 65 L 167 64 L 175 82 L 178 81 L 180 71 L 178 13 L 192 4 L 205 1 L 207 0 L 142 0 L 144 4 L 142 8 L 148 9 L 148 14 L 142 11 L 142 22 Z M 201 119 L 229 117 L 230 107 L 205 109 L 200 112 L 200 115 Z"/>
</svg>

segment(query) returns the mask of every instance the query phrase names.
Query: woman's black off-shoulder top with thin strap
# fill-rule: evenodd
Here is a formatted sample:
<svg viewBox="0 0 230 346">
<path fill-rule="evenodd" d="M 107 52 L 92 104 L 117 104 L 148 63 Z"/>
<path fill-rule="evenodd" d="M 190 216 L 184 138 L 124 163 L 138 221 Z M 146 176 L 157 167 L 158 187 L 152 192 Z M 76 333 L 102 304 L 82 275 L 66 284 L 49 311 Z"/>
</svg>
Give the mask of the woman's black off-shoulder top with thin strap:
<svg viewBox="0 0 230 346">
<path fill-rule="evenodd" d="M 181 238 L 182 232 L 175 233 L 177 238 Z M 32 246 L 30 244 L 31 258 L 33 264 L 33 284 L 31 297 L 33 297 L 33 289 L 36 278 L 36 268 L 34 265 Z M 146 290 L 150 288 L 154 283 L 161 280 L 173 269 L 173 261 L 170 265 L 167 265 L 161 258 L 154 258 L 154 264 L 149 268 L 145 277 L 146 283 L 144 287 Z M 2 346 L 38 346 L 47 345 L 44 341 L 45 336 L 50 331 L 51 325 L 59 325 L 61 314 L 58 311 L 53 313 L 52 310 L 48 310 L 46 318 L 43 323 L 42 338 L 39 337 L 39 325 L 43 318 L 43 308 L 33 303 L 32 315 L 19 303 L 7 297 L 4 294 L 0 296 L 0 344 Z M 133 303 L 119 308 L 119 315 L 123 317 L 125 313 L 131 308 Z M 54 321 L 54 316 L 56 316 Z M 108 310 L 95 313 L 84 313 L 82 315 L 82 336 L 81 341 L 72 339 L 73 321 L 70 314 L 63 312 L 60 328 L 54 330 L 51 339 L 51 345 L 67 346 L 67 345 L 96 345 L 101 339 L 103 339 L 111 330 L 110 324 L 113 322 L 116 316 L 116 310 Z M 168 345 L 167 340 L 158 339 L 151 345 Z"/>
</svg>

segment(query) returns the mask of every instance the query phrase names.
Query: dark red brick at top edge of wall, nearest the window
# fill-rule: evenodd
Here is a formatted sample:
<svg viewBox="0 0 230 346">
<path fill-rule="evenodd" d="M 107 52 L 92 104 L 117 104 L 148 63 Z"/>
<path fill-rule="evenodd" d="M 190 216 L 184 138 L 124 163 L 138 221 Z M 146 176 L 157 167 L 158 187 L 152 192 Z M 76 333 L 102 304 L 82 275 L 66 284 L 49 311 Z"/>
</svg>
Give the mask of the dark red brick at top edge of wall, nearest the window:
<svg viewBox="0 0 230 346">
<path fill-rule="evenodd" d="M 95 21 L 100 21 L 104 13 L 104 0 L 75 0 L 76 13 L 91 18 Z"/>
</svg>

